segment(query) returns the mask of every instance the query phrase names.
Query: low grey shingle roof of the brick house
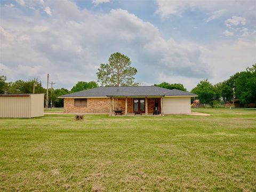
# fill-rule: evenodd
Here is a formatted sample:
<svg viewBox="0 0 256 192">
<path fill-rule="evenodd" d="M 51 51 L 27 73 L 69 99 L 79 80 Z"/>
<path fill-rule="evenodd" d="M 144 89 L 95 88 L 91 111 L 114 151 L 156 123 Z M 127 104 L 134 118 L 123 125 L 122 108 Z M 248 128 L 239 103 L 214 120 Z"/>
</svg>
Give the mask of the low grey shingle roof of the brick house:
<svg viewBox="0 0 256 192">
<path fill-rule="evenodd" d="M 78 91 L 61 95 L 60 98 L 71 97 L 132 97 L 132 96 L 196 96 L 194 93 L 180 90 L 169 90 L 157 86 L 115 86 L 115 87 L 96 87 L 89 90 Z"/>
</svg>

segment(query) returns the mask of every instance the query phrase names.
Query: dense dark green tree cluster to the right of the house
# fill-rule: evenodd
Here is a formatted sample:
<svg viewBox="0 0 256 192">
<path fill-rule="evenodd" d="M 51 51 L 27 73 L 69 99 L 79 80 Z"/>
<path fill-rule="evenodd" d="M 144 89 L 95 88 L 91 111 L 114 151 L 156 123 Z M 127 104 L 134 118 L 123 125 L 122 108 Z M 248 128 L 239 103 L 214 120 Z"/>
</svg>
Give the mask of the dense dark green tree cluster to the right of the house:
<svg viewBox="0 0 256 192">
<path fill-rule="evenodd" d="M 245 71 L 237 72 L 226 81 L 211 84 L 208 79 L 199 82 L 191 90 L 198 95 L 202 104 L 213 105 L 214 102 L 231 102 L 233 97 L 243 103 L 256 102 L 256 63 L 247 67 Z"/>
</svg>

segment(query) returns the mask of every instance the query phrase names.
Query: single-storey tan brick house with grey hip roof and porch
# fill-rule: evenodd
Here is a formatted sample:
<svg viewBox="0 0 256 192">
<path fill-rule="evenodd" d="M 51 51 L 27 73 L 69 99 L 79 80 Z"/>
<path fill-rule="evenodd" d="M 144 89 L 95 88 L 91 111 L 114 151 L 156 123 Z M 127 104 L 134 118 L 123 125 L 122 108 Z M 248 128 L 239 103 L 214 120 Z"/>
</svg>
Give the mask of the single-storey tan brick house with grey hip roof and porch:
<svg viewBox="0 0 256 192">
<path fill-rule="evenodd" d="M 141 112 L 153 115 L 189 114 L 190 98 L 196 94 L 157 86 L 97 87 L 61 95 L 64 112 L 70 114 L 109 114 L 122 110 L 125 115 Z"/>
</svg>

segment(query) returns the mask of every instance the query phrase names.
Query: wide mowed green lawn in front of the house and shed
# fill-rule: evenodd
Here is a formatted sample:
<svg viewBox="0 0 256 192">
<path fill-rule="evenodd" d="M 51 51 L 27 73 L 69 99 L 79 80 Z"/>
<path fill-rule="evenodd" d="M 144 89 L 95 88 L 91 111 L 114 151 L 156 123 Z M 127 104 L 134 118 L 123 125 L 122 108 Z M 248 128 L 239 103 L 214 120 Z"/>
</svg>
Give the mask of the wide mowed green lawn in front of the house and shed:
<svg viewBox="0 0 256 192">
<path fill-rule="evenodd" d="M 1 191 L 256 191 L 256 110 L 2 118 Z"/>
</svg>

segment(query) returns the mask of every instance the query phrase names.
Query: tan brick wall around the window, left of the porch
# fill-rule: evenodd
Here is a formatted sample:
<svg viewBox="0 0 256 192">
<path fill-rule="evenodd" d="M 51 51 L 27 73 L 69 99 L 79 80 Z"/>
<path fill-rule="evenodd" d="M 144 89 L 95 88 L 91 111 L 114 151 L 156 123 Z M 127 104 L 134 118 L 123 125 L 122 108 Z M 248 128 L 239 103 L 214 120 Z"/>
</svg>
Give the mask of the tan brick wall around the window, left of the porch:
<svg viewBox="0 0 256 192">
<path fill-rule="evenodd" d="M 87 106 L 75 106 L 74 99 L 64 99 L 64 113 L 109 114 L 109 98 L 87 99 Z"/>
</svg>

